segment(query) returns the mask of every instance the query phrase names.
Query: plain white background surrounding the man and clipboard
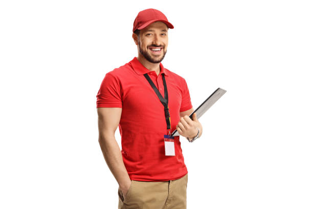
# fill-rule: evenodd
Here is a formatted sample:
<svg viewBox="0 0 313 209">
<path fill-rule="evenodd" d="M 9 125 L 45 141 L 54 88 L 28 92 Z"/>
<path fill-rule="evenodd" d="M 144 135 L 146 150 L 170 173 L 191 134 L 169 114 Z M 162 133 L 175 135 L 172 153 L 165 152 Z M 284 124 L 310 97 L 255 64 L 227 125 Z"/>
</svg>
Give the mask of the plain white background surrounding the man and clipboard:
<svg viewBox="0 0 313 209">
<path fill-rule="evenodd" d="M 162 63 L 193 107 L 227 90 L 181 138 L 188 208 L 313 208 L 313 7 L 273 0 L 1 1 L 0 207 L 117 208 L 96 94 L 147 8 L 174 25 Z"/>
</svg>

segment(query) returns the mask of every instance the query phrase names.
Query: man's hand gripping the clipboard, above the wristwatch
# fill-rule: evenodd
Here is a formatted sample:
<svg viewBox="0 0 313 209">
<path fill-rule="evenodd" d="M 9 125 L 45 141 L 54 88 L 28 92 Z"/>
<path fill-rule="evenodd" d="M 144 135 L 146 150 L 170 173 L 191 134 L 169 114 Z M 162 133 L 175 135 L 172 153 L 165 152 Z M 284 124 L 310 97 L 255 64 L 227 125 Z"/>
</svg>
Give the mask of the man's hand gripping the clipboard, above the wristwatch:
<svg viewBox="0 0 313 209">
<path fill-rule="evenodd" d="M 197 135 L 198 129 L 201 123 L 198 121 L 196 113 L 193 113 L 192 120 L 188 115 L 181 117 L 180 122 L 178 122 L 176 129 L 181 136 L 193 138 Z"/>
</svg>

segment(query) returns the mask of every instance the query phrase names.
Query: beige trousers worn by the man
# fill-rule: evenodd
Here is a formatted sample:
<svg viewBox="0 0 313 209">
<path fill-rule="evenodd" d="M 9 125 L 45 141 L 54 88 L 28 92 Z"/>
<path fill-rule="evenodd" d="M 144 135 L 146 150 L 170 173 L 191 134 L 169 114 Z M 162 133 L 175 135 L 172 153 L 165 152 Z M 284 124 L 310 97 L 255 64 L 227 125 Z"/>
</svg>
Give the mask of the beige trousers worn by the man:
<svg viewBox="0 0 313 209">
<path fill-rule="evenodd" d="M 186 209 L 188 173 L 170 181 L 136 181 L 131 184 L 125 199 L 118 190 L 119 209 Z"/>
</svg>

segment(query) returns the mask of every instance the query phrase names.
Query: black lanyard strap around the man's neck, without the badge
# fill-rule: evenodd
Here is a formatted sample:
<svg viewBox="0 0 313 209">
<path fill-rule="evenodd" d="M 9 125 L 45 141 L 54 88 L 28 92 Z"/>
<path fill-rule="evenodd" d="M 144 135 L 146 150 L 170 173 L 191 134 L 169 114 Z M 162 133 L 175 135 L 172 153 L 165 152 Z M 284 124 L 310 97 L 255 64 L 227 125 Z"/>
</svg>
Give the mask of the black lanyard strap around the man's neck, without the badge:
<svg viewBox="0 0 313 209">
<path fill-rule="evenodd" d="M 161 93 L 159 92 L 159 90 L 157 89 L 157 87 L 155 87 L 155 85 L 152 82 L 151 78 L 149 77 L 148 73 L 144 74 L 144 76 L 146 77 L 146 79 L 150 83 L 150 86 L 152 87 L 154 92 L 158 95 L 162 105 L 164 106 L 165 120 L 166 120 L 166 124 L 167 124 L 166 128 L 167 128 L 167 131 L 168 131 L 168 135 L 170 135 L 171 120 L 170 120 L 170 115 L 169 115 L 169 111 L 168 111 L 168 93 L 167 93 L 167 86 L 166 86 L 164 73 L 162 73 L 163 86 L 164 86 L 164 98 L 161 95 Z"/>
</svg>

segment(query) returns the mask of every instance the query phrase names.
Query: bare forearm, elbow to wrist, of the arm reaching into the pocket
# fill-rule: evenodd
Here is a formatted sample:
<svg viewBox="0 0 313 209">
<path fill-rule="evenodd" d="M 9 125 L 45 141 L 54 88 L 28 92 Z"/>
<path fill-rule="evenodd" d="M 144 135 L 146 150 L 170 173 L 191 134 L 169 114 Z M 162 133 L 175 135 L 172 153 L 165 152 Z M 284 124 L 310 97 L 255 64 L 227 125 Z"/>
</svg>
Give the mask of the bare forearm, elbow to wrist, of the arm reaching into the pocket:
<svg viewBox="0 0 313 209">
<path fill-rule="evenodd" d="M 121 150 L 114 134 L 99 136 L 99 144 L 111 173 L 122 188 L 130 181 L 127 170 L 125 168 Z"/>
</svg>

